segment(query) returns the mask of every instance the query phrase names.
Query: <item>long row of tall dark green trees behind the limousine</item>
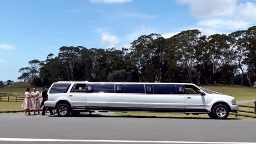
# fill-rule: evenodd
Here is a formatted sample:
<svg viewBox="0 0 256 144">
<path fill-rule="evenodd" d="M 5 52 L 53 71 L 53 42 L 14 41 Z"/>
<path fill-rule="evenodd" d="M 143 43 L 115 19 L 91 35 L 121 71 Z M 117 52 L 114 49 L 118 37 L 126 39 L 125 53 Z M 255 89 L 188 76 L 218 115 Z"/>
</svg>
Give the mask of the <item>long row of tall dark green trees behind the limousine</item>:
<svg viewBox="0 0 256 144">
<path fill-rule="evenodd" d="M 253 86 L 256 80 L 256 26 L 226 34 L 197 29 L 170 38 L 141 35 L 118 50 L 63 46 L 45 61 L 33 59 L 19 80 L 51 85 L 61 80 L 111 82 L 189 82 Z"/>
</svg>

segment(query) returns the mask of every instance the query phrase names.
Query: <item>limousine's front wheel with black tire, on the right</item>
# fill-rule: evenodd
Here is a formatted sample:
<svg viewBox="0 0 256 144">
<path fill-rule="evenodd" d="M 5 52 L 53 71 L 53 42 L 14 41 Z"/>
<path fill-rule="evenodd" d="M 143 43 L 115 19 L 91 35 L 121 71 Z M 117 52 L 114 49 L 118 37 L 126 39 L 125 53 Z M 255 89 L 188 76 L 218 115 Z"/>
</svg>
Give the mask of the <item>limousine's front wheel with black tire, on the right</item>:
<svg viewBox="0 0 256 144">
<path fill-rule="evenodd" d="M 219 104 L 213 107 L 213 116 L 216 119 L 226 119 L 229 116 L 229 109 L 223 104 Z"/>
</svg>

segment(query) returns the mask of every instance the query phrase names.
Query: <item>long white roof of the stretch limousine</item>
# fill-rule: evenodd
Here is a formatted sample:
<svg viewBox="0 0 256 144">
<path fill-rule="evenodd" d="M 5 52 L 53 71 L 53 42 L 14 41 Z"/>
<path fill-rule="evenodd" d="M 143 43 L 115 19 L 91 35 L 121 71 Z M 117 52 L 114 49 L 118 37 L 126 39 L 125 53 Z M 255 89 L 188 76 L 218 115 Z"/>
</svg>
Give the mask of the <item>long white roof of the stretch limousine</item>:
<svg viewBox="0 0 256 144">
<path fill-rule="evenodd" d="M 109 84 L 172 84 L 172 85 L 195 85 L 194 83 L 167 83 L 167 82 L 89 82 L 89 81 L 58 81 L 57 83 L 109 83 Z"/>
</svg>

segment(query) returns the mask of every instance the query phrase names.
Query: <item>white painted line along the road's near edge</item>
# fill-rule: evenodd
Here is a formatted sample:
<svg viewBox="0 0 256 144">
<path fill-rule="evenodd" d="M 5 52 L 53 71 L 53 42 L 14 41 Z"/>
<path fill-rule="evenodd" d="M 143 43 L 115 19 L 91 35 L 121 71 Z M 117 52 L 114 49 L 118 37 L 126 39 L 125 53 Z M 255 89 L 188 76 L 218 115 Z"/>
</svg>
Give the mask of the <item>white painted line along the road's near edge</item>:
<svg viewBox="0 0 256 144">
<path fill-rule="evenodd" d="M 43 141 L 43 142 L 126 142 L 126 143 L 197 143 L 197 144 L 255 144 L 256 142 L 207 142 L 207 141 L 129 141 L 129 140 L 67 140 L 67 139 L 20 139 L 0 138 L 0 141 Z"/>
</svg>

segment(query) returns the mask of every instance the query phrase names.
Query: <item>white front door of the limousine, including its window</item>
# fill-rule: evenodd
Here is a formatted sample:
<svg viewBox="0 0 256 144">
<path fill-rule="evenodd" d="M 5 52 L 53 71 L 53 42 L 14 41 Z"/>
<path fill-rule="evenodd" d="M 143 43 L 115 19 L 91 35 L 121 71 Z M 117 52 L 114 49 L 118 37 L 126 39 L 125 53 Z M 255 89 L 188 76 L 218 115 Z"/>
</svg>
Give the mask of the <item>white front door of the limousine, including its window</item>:
<svg viewBox="0 0 256 144">
<path fill-rule="evenodd" d="M 184 85 L 185 88 L 185 111 L 186 112 L 207 112 L 206 95 L 200 94 L 200 89 L 193 85 Z"/>
</svg>

